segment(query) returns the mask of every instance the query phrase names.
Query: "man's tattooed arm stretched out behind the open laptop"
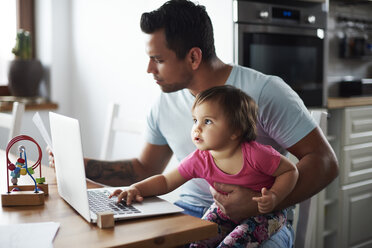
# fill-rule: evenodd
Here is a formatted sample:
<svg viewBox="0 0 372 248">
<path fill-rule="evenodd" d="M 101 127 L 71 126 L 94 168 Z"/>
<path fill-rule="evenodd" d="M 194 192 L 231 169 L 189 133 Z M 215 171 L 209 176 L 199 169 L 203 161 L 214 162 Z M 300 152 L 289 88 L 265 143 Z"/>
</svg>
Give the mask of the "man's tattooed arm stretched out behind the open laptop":
<svg viewBox="0 0 372 248">
<path fill-rule="evenodd" d="M 84 159 L 86 176 L 111 186 L 127 186 L 149 176 L 160 174 L 172 157 L 168 145 L 146 143 L 139 158 L 120 161 Z"/>
</svg>

